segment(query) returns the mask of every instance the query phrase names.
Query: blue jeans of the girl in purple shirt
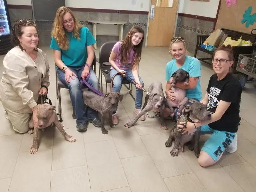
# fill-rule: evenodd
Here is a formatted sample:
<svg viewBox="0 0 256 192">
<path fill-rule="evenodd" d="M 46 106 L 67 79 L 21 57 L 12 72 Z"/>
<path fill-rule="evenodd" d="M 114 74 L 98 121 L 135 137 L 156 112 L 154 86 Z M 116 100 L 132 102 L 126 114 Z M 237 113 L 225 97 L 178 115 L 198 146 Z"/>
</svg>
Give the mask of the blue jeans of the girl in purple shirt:
<svg viewBox="0 0 256 192">
<path fill-rule="evenodd" d="M 126 77 L 121 77 L 120 75 L 116 75 L 113 81 L 113 92 L 120 92 L 121 87 L 122 87 L 122 81 L 123 78 L 126 78 L 127 81 L 129 81 L 130 83 L 132 83 L 132 81 L 129 79 L 133 79 L 133 73 L 132 73 L 132 69 L 127 69 L 126 71 Z M 115 69 L 111 69 L 110 70 L 110 77 L 112 78 L 117 72 L 117 70 Z M 129 78 L 128 78 L 129 77 Z M 142 85 L 142 87 L 144 86 L 143 81 L 141 80 L 140 76 L 140 83 Z M 136 109 L 141 109 L 141 105 L 142 105 L 142 97 L 143 97 L 143 91 L 141 89 L 137 89 L 136 88 L 136 98 L 135 98 L 135 108 Z M 117 107 L 114 108 L 113 113 L 116 113 Z"/>
</svg>

